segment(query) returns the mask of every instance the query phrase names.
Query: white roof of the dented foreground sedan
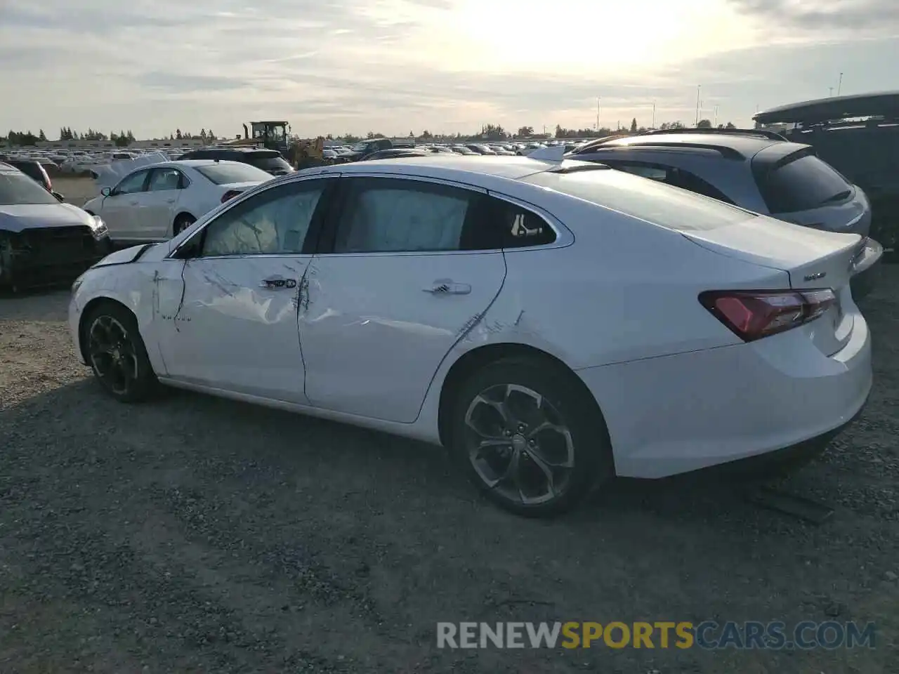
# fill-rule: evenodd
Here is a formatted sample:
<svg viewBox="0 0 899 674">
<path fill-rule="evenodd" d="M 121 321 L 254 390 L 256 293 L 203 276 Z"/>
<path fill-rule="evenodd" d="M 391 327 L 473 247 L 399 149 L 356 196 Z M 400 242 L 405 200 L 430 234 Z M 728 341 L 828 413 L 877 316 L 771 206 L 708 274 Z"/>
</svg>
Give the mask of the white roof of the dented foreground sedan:
<svg viewBox="0 0 899 674">
<path fill-rule="evenodd" d="M 427 155 L 405 155 L 392 158 L 389 162 L 359 162 L 337 164 L 325 169 L 325 173 L 399 173 L 449 180 L 472 179 L 477 176 L 519 180 L 533 173 L 547 169 L 576 165 L 595 166 L 590 162 L 565 160 L 565 162 L 543 162 L 517 155 L 457 155 L 456 153 L 429 153 Z M 299 172 L 303 173 L 303 172 Z M 294 173 L 298 175 L 299 173 Z M 466 182 L 463 180 L 463 182 Z"/>
</svg>

